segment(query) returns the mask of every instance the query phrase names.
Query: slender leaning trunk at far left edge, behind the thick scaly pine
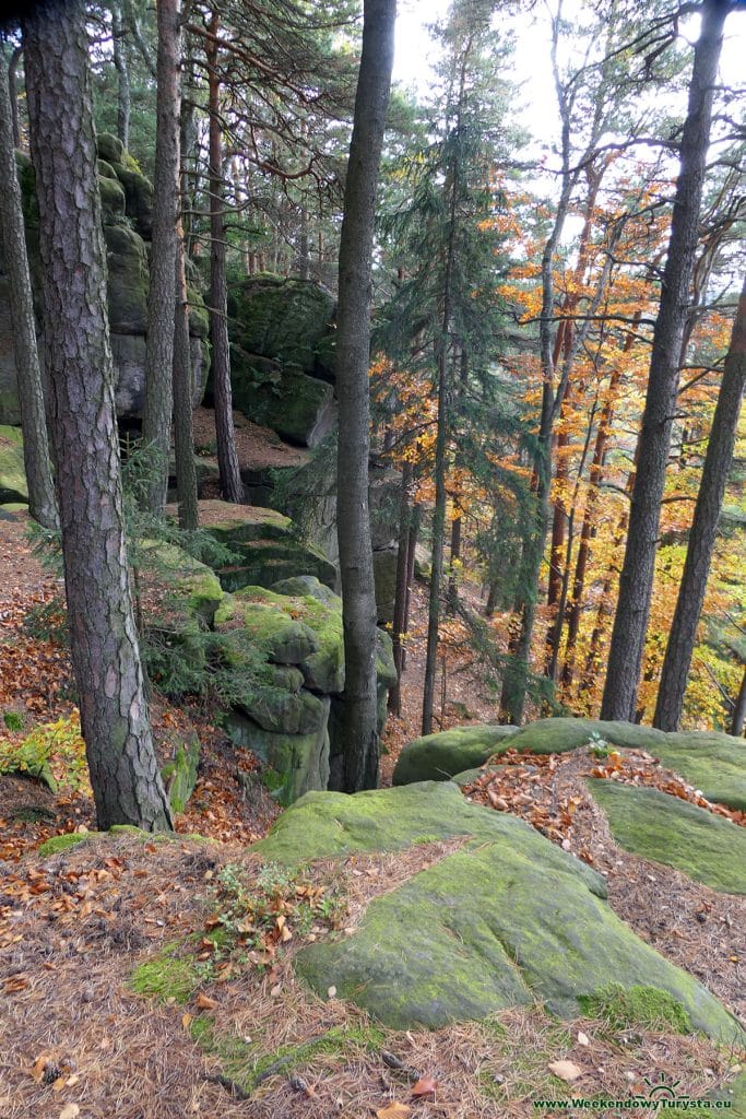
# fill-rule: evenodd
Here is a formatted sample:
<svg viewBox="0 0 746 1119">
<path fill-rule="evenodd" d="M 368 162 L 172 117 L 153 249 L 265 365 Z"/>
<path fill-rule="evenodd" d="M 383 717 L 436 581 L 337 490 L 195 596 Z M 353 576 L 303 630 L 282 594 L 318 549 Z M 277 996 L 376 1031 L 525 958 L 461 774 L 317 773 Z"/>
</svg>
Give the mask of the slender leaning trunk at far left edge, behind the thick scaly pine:
<svg viewBox="0 0 746 1119">
<path fill-rule="evenodd" d="M 23 430 L 23 466 L 28 482 L 29 511 L 45 528 L 57 527 L 55 487 L 49 463 L 47 421 L 41 389 L 41 370 L 36 344 L 36 319 L 31 279 L 23 233 L 21 191 L 16 167 L 12 111 L 8 74 L 0 66 L 0 232 L 8 273 L 10 321 L 18 399 Z"/>
</svg>

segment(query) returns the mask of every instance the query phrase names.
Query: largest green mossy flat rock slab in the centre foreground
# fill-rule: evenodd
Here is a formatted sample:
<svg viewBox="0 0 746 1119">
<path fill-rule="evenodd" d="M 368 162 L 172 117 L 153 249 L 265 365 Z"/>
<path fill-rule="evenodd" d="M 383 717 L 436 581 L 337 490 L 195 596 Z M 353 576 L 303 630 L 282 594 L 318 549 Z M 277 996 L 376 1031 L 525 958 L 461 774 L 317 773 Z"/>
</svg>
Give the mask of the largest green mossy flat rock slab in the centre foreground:
<svg viewBox="0 0 746 1119">
<path fill-rule="evenodd" d="M 739 1036 L 707 990 L 611 911 L 601 875 L 521 820 L 469 805 L 453 783 L 309 793 L 254 849 L 298 864 L 459 836 L 461 850 L 375 899 L 351 935 L 303 949 L 299 974 L 395 1028 L 535 1000 L 574 1017 L 578 998 L 613 977 L 669 991 L 712 1036 Z"/>
</svg>

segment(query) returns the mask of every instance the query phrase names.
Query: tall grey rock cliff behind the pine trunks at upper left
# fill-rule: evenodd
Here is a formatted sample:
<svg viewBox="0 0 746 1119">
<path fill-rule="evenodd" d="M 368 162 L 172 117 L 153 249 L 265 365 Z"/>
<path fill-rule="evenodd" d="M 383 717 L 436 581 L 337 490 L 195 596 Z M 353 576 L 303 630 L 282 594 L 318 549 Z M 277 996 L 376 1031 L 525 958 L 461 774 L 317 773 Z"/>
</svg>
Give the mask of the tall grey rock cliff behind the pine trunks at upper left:
<svg viewBox="0 0 746 1119">
<path fill-rule="evenodd" d="M 97 138 L 98 190 L 102 203 L 106 262 L 108 266 L 108 322 L 112 356 L 117 374 L 116 408 L 121 416 L 135 417 L 142 411 L 145 377 L 145 327 L 148 321 L 148 243 L 152 234 L 153 188 L 140 172 L 121 142 L 106 133 Z M 34 188 L 34 169 L 22 152 L 17 153 L 22 190 L 23 217 L 31 282 L 37 289 L 39 215 Z M 189 291 L 193 402 L 202 397 L 207 377 L 207 312 L 201 297 Z M 37 312 L 40 308 L 37 303 Z M 44 339 L 39 337 L 40 346 Z M 19 423 L 12 328 L 8 309 L 8 280 L 0 255 L 0 423 Z"/>
</svg>

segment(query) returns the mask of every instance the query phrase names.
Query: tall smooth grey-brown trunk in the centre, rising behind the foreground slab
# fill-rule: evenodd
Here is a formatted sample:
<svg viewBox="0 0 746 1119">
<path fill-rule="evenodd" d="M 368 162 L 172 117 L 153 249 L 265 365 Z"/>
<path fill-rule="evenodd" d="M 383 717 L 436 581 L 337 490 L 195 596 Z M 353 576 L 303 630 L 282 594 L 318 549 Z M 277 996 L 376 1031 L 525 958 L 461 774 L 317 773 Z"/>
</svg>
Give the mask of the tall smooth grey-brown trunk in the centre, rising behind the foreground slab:
<svg viewBox="0 0 746 1119">
<path fill-rule="evenodd" d="M 370 271 L 396 0 L 365 0 L 339 248 L 337 529 L 344 629 L 343 790 L 378 783 L 376 594 L 368 513 Z"/>
</svg>

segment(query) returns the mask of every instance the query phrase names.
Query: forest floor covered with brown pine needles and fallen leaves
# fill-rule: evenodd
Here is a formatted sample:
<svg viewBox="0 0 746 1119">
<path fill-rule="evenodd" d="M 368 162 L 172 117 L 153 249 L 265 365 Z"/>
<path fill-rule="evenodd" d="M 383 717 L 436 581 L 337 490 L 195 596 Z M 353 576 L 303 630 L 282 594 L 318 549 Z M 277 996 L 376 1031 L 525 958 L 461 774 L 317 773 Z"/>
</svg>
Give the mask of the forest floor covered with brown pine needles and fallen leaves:
<svg viewBox="0 0 746 1119">
<path fill-rule="evenodd" d="M 22 518 L 0 520 L 0 714 L 9 716 L 0 746 L 74 711 L 66 650 L 44 633 L 45 610 L 60 586 L 31 555 L 25 527 Z M 417 587 L 403 714 L 387 732 L 384 783 L 403 743 L 418 734 L 423 627 Z M 443 726 L 495 721 L 479 671 L 464 666 L 450 675 L 438 707 Z M 256 760 L 232 746 L 209 712 L 159 702 L 153 723 L 162 760 L 191 731 L 202 743 L 198 786 L 170 843 L 125 835 L 41 858 L 37 848 L 49 836 L 94 829 L 85 781 L 54 796 L 37 782 L 0 778 L 2 1119 L 528 1119 L 551 1113 L 531 1101 L 556 1092 L 563 1079 L 567 1096 L 587 1099 L 644 1093 L 653 1076 L 678 1081 L 677 1091 L 699 1097 L 743 1068 L 743 1054 L 660 1023 L 558 1023 L 541 1009 L 435 1033 L 381 1031 L 353 1007 L 333 998 L 322 1003 L 295 981 L 291 961 L 303 942 L 300 932 L 282 950 L 267 941 L 258 966 L 235 953 L 218 961 L 208 933 L 211 914 L 225 901 L 221 868 L 256 863 L 247 845 L 265 834 L 278 810 L 251 777 Z M 743 1017 L 746 900 L 617 847 L 587 796 L 584 774 L 594 767 L 608 768 L 605 775 L 616 780 L 697 800 L 648 754 L 629 753 L 622 765 L 587 750 L 539 764 L 532 758 L 530 765 L 509 755 L 499 778 L 485 774 L 468 793 L 523 817 L 591 863 L 606 877 L 618 915 Z M 195 835 L 219 843 L 206 845 Z M 400 858 L 376 856 L 380 865 L 362 868 L 349 861 L 343 873 L 359 876 L 362 869 L 388 881 Z M 310 873 L 334 911 L 339 883 L 329 867 Z M 343 925 L 344 913 L 334 920 Z M 319 935 L 324 931 L 317 929 Z M 185 1002 L 178 993 L 159 999 L 133 989 L 139 965 L 187 941 L 204 948 L 198 991 L 187 993 Z M 330 1043 L 340 1037 L 343 1044 Z M 237 1056 L 242 1046 L 251 1056 L 245 1068 Z M 568 1064 L 553 1075 L 549 1066 L 557 1061 Z M 254 1072 L 242 1080 L 226 1076 L 226 1068 Z M 238 1080 L 251 1081 L 251 1091 L 239 1089 Z"/>
</svg>

